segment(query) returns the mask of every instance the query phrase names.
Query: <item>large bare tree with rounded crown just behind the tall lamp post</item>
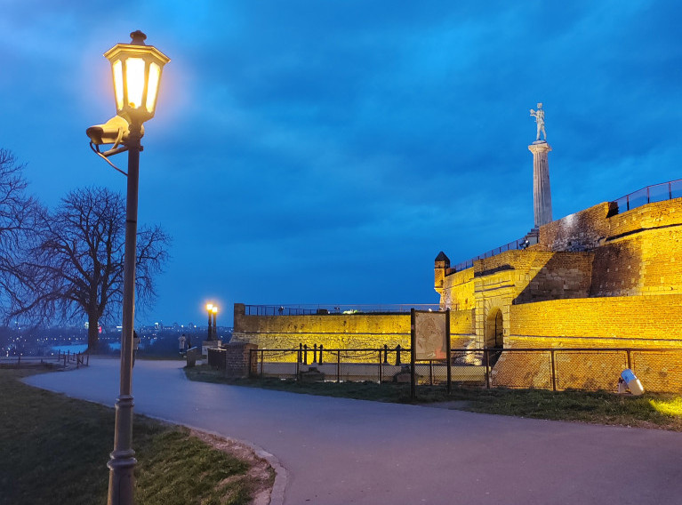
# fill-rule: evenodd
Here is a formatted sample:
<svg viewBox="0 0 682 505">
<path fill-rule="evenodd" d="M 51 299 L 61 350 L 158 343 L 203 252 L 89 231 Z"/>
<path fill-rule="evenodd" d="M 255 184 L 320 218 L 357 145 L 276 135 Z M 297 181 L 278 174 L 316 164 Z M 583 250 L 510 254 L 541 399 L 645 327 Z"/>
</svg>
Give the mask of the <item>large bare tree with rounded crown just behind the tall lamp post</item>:
<svg viewBox="0 0 682 505">
<path fill-rule="evenodd" d="M 100 322 L 118 315 L 123 301 L 124 220 L 123 196 L 107 188 L 76 189 L 55 212 L 42 212 L 39 240 L 24 263 L 28 296 L 19 311 L 63 321 L 87 317 L 88 349 L 95 351 Z M 155 298 L 154 278 L 168 258 L 169 244 L 160 227 L 140 227 L 136 305 Z"/>
</svg>

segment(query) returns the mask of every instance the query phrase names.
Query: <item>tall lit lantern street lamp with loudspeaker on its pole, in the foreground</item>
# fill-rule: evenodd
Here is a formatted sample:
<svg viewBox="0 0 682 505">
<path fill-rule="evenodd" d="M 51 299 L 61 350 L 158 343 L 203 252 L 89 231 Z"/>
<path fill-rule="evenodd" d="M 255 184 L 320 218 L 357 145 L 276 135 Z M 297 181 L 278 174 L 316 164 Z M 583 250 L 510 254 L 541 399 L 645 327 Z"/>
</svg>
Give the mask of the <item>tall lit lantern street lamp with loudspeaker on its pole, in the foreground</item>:
<svg viewBox="0 0 682 505">
<path fill-rule="evenodd" d="M 114 451 L 108 461 L 108 505 L 133 502 L 133 469 L 137 460 L 132 450 L 132 325 L 135 317 L 135 262 L 137 247 L 138 180 L 142 124 L 154 117 L 161 72 L 170 59 L 156 47 L 144 43 L 147 36 L 132 32 L 130 44 L 116 44 L 104 53 L 111 63 L 116 116 L 105 124 L 87 129 L 91 148 L 105 159 L 128 151 L 127 198 L 125 207 L 125 252 L 123 333 L 121 334 L 121 386 L 116 398 Z M 100 144 L 114 144 L 100 153 Z M 119 147 L 121 146 L 121 147 Z M 108 161 L 108 159 L 107 159 Z M 111 162 L 108 161 L 109 164 Z M 119 172 L 114 164 L 111 164 Z"/>
</svg>

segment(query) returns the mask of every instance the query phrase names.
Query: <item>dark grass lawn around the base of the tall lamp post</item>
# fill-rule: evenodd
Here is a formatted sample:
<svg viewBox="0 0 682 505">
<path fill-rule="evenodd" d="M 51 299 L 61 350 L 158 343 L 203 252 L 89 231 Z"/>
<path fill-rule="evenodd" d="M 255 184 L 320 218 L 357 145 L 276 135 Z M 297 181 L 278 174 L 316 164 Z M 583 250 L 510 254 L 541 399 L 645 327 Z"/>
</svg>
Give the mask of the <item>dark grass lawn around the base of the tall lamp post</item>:
<svg viewBox="0 0 682 505">
<path fill-rule="evenodd" d="M 106 503 L 114 410 L 19 381 L 31 373 L 0 369 L 0 505 Z M 135 416 L 132 447 L 139 504 L 249 503 L 274 481 L 264 461 L 143 416 Z"/>
</svg>

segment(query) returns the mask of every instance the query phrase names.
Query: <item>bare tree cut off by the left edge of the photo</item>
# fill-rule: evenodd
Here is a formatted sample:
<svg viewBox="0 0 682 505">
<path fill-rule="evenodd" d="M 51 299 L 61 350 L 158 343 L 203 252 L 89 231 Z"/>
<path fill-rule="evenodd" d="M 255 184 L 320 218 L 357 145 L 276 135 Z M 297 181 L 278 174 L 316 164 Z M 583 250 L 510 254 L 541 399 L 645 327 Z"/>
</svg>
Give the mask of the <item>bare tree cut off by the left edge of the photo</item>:
<svg viewBox="0 0 682 505">
<path fill-rule="evenodd" d="M 34 236 L 38 209 L 36 200 L 26 194 L 23 168 L 11 151 L 0 148 L 0 301 L 7 314 L 24 281 L 19 265 Z"/>
</svg>

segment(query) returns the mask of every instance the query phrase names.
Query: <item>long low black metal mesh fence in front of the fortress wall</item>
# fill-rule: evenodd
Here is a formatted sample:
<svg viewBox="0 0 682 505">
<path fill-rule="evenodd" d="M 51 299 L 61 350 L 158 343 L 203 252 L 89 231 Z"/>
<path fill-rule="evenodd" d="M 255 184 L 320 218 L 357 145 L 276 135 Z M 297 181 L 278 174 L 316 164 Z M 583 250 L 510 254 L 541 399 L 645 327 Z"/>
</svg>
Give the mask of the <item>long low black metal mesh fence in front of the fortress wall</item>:
<svg viewBox="0 0 682 505">
<path fill-rule="evenodd" d="M 411 381 L 410 349 L 254 349 L 251 374 L 299 381 Z M 450 381 L 448 381 L 448 368 Z M 453 349 L 447 360 L 417 361 L 417 385 L 614 390 L 630 368 L 648 391 L 682 391 L 682 349 Z"/>
</svg>

